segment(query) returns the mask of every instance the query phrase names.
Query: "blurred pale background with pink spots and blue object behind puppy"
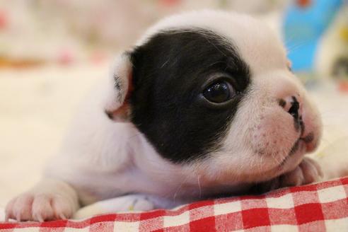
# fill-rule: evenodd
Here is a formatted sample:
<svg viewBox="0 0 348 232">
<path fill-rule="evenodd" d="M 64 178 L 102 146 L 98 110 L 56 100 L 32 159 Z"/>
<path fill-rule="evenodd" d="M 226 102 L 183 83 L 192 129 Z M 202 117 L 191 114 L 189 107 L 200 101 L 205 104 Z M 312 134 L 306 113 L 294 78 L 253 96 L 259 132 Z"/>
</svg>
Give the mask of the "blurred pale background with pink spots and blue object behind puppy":
<svg viewBox="0 0 348 232">
<path fill-rule="evenodd" d="M 347 0 L 0 0 L 0 207 L 40 178 L 112 55 L 163 16 L 202 8 L 269 23 L 322 112 L 315 155 L 348 156 Z"/>
</svg>

